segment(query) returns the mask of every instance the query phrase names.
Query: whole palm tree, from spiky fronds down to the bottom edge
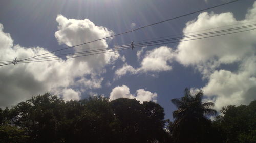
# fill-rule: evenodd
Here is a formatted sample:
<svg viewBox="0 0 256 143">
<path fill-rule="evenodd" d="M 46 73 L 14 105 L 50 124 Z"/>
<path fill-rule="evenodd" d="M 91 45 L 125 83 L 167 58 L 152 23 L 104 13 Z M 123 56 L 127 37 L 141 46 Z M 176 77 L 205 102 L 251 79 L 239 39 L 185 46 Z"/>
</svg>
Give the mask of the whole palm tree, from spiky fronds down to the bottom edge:
<svg viewBox="0 0 256 143">
<path fill-rule="evenodd" d="M 178 108 L 173 112 L 175 121 L 170 124 L 174 142 L 210 142 L 211 122 L 206 116 L 216 115 L 217 111 L 211 109 L 214 103 L 202 103 L 202 98 L 202 90 L 192 96 L 186 88 L 184 97 L 172 99 Z"/>
</svg>

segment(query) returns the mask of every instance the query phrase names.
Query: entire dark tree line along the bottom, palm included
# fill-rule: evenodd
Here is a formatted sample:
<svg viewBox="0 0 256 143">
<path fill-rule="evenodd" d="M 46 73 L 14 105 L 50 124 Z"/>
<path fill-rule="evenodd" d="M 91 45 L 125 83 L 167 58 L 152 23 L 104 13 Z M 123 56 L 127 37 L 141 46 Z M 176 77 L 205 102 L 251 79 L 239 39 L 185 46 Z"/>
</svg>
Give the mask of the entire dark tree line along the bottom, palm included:
<svg viewBox="0 0 256 143">
<path fill-rule="evenodd" d="M 172 99 L 177 110 L 171 122 L 151 101 L 90 97 L 65 102 L 46 93 L 0 108 L 0 142 L 256 142 L 256 100 L 223 107 L 217 115 L 214 103 L 202 98 L 202 91 L 191 95 L 185 89 L 183 97 Z"/>
</svg>

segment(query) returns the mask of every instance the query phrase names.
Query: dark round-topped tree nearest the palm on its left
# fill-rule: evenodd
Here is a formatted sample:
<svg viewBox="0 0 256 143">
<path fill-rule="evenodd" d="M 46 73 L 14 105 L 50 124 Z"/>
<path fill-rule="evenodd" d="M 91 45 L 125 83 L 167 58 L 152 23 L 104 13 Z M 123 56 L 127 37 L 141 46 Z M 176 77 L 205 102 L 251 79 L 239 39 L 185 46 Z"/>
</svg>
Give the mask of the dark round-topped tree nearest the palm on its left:
<svg viewBox="0 0 256 143">
<path fill-rule="evenodd" d="M 164 110 L 159 104 L 119 98 L 111 101 L 111 107 L 120 121 L 120 142 L 164 141 Z"/>
</svg>

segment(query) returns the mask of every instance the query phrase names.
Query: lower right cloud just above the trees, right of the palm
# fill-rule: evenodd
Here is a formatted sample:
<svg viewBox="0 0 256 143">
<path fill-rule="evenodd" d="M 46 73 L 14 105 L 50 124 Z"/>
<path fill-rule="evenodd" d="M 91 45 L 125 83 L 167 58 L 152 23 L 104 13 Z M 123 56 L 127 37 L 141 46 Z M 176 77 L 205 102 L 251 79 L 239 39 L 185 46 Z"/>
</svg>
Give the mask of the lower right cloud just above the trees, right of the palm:
<svg viewBox="0 0 256 143">
<path fill-rule="evenodd" d="M 242 66 L 238 73 L 227 70 L 216 70 L 209 77 L 209 81 L 202 88 L 209 100 L 215 99 L 216 108 L 226 105 L 248 104 L 255 99 L 256 91 L 256 58 L 244 61 L 248 65 Z"/>
</svg>

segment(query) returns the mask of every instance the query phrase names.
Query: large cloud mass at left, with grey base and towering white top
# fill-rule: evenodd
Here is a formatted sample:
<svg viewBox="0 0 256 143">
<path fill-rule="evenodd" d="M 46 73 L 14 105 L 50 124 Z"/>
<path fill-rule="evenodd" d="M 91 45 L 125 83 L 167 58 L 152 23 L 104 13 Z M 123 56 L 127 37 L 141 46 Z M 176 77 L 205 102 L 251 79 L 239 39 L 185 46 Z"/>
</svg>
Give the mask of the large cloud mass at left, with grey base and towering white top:
<svg viewBox="0 0 256 143">
<path fill-rule="evenodd" d="M 59 23 L 55 36 L 60 44 L 73 46 L 98 38 L 110 36 L 113 32 L 105 27 L 94 25 L 90 20 L 67 19 L 62 15 L 56 18 Z M 13 45 L 10 34 L 3 31 L 0 24 L 0 59 L 13 60 L 17 57 L 31 57 L 47 53 L 44 48 L 26 48 Z M 106 40 L 80 46 L 75 49 L 108 48 Z M 54 56 L 54 54 L 48 54 Z M 95 56 L 87 56 L 77 59 L 66 59 L 40 63 L 26 63 L 1 66 L 0 68 L 0 105 L 1 107 L 15 105 L 16 103 L 31 98 L 32 96 L 51 92 L 62 94 L 65 100 L 80 99 L 81 92 L 86 89 L 101 87 L 105 72 L 104 67 L 112 64 L 118 53 L 110 52 Z M 72 89 L 74 88 L 75 89 Z"/>
</svg>

